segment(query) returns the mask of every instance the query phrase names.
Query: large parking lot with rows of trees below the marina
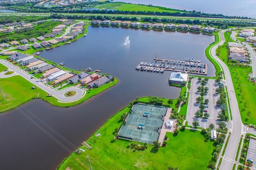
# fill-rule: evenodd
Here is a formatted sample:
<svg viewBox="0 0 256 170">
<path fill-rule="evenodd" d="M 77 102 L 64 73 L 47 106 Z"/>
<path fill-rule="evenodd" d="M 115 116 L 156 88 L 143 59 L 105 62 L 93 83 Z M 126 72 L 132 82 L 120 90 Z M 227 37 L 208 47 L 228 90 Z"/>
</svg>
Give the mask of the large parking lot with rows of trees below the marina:
<svg viewBox="0 0 256 170">
<path fill-rule="evenodd" d="M 196 103 L 196 98 L 200 97 L 200 94 L 197 92 L 198 86 L 201 86 L 201 82 L 198 81 L 197 78 L 192 79 L 190 95 L 188 100 L 188 110 L 186 115 L 186 121 L 188 121 L 188 125 L 192 126 L 193 121 L 198 121 L 200 123 L 200 127 L 208 128 L 212 123 L 214 127 L 218 127 L 218 114 L 221 113 L 220 107 L 216 107 L 216 101 L 220 98 L 219 94 L 215 94 L 216 88 L 218 85 L 215 85 L 215 80 L 209 80 L 208 83 L 204 87 L 208 87 L 208 93 L 204 96 L 205 99 L 209 99 L 208 108 L 205 108 L 210 117 L 208 119 L 197 118 L 195 117 L 196 111 L 200 112 L 199 105 L 200 103 Z"/>
</svg>

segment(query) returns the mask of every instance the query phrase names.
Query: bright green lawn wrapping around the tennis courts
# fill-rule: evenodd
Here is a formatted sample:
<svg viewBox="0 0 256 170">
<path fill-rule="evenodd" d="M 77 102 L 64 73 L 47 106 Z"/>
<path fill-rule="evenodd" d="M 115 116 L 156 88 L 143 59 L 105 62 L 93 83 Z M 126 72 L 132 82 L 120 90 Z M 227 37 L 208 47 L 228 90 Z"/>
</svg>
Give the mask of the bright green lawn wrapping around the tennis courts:
<svg viewBox="0 0 256 170">
<path fill-rule="evenodd" d="M 160 147 L 158 150 L 151 145 L 145 150 L 135 150 L 130 148 L 129 141 L 114 140 L 114 129 L 121 125 L 120 115 L 129 110 L 130 106 L 106 122 L 98 130 L 102 136 L 96 138 L 94 134 L 87 140 L 92 146 L 91 150 L 86 150 L 80 155 L 71 154 L 58 169 L 66 170 L 67 167 L 72 170 L 89 169 L 88 165 L 82 161 L 86 160 L 86 156 L 89 156 L 94 169 L 164 170 L 168 166 L 178 166 L 180 170 L 207 169 L 214 146 L 212 146 L 213 142 L 204 142 L 205 138 L 199 131 L 180 131 L 175 137 L 168 132 L 167 146 Z M 81 148 L 85 149 L 84 146 Z"/>
</svg>

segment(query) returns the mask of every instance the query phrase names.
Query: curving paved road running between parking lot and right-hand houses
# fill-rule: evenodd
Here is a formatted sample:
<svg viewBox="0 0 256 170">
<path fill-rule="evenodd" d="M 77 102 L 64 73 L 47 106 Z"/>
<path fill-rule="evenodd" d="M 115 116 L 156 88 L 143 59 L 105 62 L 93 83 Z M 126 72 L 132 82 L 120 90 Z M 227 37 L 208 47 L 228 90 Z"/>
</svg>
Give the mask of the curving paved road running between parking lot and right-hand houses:
<svg viewBox="0 0 256 170">
<path fill-rule="evenodd" d="M 232 79 L 231 79 L 231 75 L 230 75 L 230 71 L 228 69 L 228 67 L 226 66 L 226 64 L 218 58 L 218 56 L 216 55 L 216 49 L 218 47 L 218 45 L 222 45 L 225 42 L 225 38 L 224 38 L 224 32 L 226 30 L 222 30 L 220 32 L 220 42 L 215 45 L 214 47 L 212 47 L 212 49 L 210 50 L 210 53 L 212 54 L 212 57 L 218 61 L 218 63 L 222 66 L 223 68 L 223 72 L 225 74 L 225 81 L 226 81 L 226 87 L 228 89 L 227 93 L 230 99 L 230 108 L 231 108 L 231 113 L 232 113 L 232 117 L 233 117 L 233 121 L 231 123 L 233 123 L 233 127 L 232 129 L 230 129 L 232 131 L 231 135 L 230 135 L 230 139 L 226 148 L 226 152 L 224 154 L 223 160 L 222 160 L 222 164 L 220 165 L 220 170 L 232 170 L 233 168 L 233 163 L 236 157 L 236 151 L 238 149 L 238 145 L 239 145 L 239 141 L 240 141 L 240 137 L 243 133 L 243 125 L 242 125 L 242 120 L 241 120 L 241 116 L 240 116 L 240 112 L 239 112 L 239 108 L 238 108 L 238 103 L 236 100 L 236 94 L 234 92 L 234 86 L 232 83 Z"/>
</svg>

